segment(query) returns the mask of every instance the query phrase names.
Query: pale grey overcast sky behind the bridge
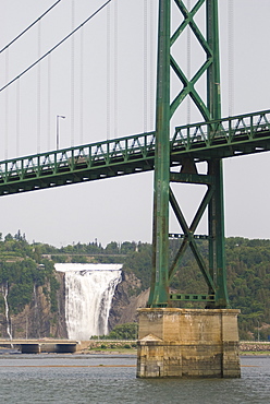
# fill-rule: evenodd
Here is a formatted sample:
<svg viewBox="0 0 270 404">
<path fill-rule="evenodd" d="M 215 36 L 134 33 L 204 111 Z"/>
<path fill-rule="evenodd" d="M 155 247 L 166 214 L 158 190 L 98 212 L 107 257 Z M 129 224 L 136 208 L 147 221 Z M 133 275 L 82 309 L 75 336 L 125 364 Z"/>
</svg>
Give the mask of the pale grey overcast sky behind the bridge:
<svg viewBox="0 0 270 404">
<path fill-rule="evenodd" d="M 0 47 L 53 3 L 0 0 Z M 222 115 L 270 109 L 270 2 L 231 1 L 231 36 L 230 2 L 219 3 Z M 8 52 L 0 54 L 0 85 L 46 54 L 101 4 L 100 0 L 60 1 Z M 60 147 L 154 129 L 157 0 L 147 2 L 147 24 L 145 4 L 144 0 L 112 0 L 110 10 L 102 10 L 74 39 L 22 76 L 20 84 L 0 93 L 0 159 L 54 150 L 57 115 L 65 116 L 60 120 Z M 198 15 L 198 22 L 201 17 Z M 228 44 L 233 46 L 230 54 Z M 186 43 L 181 47 L 175 51 L 183 54 L 186 63 Z M 192 71 L 199 55 L 192 39 Z M 179 124 L 186 119 L 183 112 Z M 270 238 L 269 173 L 269 153 L 224 161 L 226 236 Z M 189 221 L 201 197 L 198 188 L 186 186 L 177 191 Z M 21 229 L 30 242 L 59 247 L 95 239 L 103 246 L 111 240 L 150 242 L 152 174 L 2 197 L 0 206 L 0 231 L 14 235 Z M 181 231 L 173 221 L 171 230 Z M 202 223 L 198 233 L 205 231 Z"/>
</svg>

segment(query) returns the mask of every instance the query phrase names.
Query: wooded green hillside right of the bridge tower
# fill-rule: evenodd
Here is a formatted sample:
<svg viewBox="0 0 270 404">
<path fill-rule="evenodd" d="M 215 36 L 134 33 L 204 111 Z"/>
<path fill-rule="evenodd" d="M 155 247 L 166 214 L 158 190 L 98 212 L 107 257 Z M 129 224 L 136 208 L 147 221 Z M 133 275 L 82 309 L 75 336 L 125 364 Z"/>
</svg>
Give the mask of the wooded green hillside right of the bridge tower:
<svg viewBox="0 0 270 404">
<path fill-rule="evenodd" d="M 232 308 L 241 309 L 242 340 L 270 335 L 270 240 L 226 240 L 228 290 Z"/>
</svg>

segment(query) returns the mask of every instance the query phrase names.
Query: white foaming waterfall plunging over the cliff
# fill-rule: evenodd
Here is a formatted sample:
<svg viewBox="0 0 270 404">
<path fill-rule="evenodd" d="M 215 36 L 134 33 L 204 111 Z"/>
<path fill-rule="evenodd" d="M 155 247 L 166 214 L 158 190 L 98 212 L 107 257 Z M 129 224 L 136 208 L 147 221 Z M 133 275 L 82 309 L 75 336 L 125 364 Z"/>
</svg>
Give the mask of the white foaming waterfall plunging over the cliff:
<svg viewBox="0 0 270 404">
<path fill-rule="evenodd" d="M 71 340 L 108 333 L 112 297 L 121 282 L 122 264 L 57 263 L 65 273 L 65 322 Z"/>
</svg>

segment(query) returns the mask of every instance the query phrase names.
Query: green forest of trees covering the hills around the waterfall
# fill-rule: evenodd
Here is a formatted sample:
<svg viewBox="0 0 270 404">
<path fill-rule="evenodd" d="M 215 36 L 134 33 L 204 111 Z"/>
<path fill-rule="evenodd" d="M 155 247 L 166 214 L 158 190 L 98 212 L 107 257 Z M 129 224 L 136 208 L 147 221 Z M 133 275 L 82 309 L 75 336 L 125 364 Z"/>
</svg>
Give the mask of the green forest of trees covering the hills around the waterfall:
<svg viewBox="0 0 270 404">
<path fill-rule="evenodd" d="M 171 240 L 173 259 L 180 240 Z M 207 240 L 198 240 L 201 254 L 207 257 Z M 225 242 L 228 292 L 231 308 L 241 309 L 240 335 L 242 340 L 268 340 L 270 336 L 270 240 L 228 238 Z M 33 242 L 19 230 L 12 236 L 0 234 L 0 310 L 4 310 L 8 293 L 11 312 L 19 313 L 32 299 L 33 288 L 48 286 L 51 310 L 57 310 L 54 262 L 118 262 L 126 272 L 133 272 L 142 282 L 139 294 L 150 285 L 151 246 L 145 242 L 112 241 L 106 247 L 95 240 L 62 248 Z M 207 293 L 204 277 L 191 252 L 171 284 L 180 293 Z M 7 289 L 8 288 L 8 289 Z M 44 287 L 46 290 L 46 288 Z M 181 304 L 194 307 L 193 304 Z M 200 306 L 202 308 L 202 306 Z"/>
</svg>

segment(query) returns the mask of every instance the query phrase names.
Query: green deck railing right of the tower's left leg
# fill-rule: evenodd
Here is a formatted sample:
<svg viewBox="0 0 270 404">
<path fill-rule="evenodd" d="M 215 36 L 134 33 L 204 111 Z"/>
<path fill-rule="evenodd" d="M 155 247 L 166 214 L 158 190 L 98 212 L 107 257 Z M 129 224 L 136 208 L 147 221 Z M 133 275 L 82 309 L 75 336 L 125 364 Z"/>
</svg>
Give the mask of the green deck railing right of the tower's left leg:
<svg viewBox="0 0 270 404">
<path fill-rule="evenodd" d="M 176 127 L 171 147 L 193 150 L 254 140 L 270 131 L 270 110 Z"/>
</svg>

